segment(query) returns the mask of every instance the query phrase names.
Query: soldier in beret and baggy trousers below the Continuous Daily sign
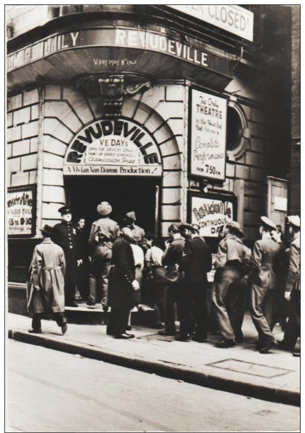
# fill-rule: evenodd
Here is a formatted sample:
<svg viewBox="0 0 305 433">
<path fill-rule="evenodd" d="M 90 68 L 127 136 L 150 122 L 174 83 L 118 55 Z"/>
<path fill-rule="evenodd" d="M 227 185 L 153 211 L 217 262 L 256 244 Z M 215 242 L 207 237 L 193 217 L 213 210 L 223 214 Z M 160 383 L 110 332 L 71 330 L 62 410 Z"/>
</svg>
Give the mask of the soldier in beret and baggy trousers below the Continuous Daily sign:
<svg viewBox="0 0 305 433">
<path fill-rule="evenodd" d="M 235 345 L 235 334 L 230 315 L 234 314 L 228 306 L 229 291 L 236 290 L 240 284 L 240 269 L 244 259 L 244 247 L 241 238 L 241 227 L 238 222 L 228 222 L 222 231 L 223 239 L 219 242 L 215 259 L 215 276 L 212 288 L 213 311 L 218 322 L 222 340 L 216 347 Z"/>
</svg>

